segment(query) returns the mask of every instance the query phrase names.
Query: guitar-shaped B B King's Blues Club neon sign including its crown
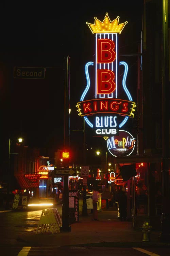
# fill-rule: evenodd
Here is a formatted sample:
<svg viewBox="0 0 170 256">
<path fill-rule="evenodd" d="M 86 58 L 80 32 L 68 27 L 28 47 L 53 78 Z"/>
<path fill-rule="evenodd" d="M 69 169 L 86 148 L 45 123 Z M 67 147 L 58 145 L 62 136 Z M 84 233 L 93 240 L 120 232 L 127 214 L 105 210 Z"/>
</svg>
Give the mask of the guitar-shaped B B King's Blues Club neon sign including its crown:
<svg viewBox="0 0 170 256">
<path fill-rule="evenodd" d="M 84 117 L 86 123 L 96 134 L 119 134 L 129 117 L 134 117 L 136 103 L 126 87 L 128 65 L 119 62 L 118 34 L 128 22 L 119 24 L 119 16 L 111 22 L 106 13 L 103 22 L 95 17 L 95 23 L 86 22 L 91 32 L 95 34 L 95 63 L 89 61 L 85 65 L 87 85 L 77 103 L 78 115 Z M 119 66 L 124 66 L 122 90 L 126 99 L 119 99 Z M 95 82 L 90 81 L 89 69 L 95 74 Z M 88 92 L 94 91 L 95 99 L 88 98 Z M 108 120 L 112 120 L 109 122 Z M 114 121 L 113 121 L 114 120 Z"/>
</svg>

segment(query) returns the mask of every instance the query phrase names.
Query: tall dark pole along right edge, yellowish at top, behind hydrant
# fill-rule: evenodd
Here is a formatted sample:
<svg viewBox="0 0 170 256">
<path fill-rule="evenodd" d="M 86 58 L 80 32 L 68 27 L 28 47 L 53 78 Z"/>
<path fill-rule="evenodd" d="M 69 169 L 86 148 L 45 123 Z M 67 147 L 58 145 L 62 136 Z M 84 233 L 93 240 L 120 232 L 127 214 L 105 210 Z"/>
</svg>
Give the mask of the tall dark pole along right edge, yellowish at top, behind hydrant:
<svg viewBox="0 0 170 256">
<path fill-rule="evenodd" d="M 169 189 L 169 65 L 168 65 L 168 0 L 163 0 L 163 72 L 162 72 L 162 198 L 161 241 L 170 241 Z"/>
</svg>

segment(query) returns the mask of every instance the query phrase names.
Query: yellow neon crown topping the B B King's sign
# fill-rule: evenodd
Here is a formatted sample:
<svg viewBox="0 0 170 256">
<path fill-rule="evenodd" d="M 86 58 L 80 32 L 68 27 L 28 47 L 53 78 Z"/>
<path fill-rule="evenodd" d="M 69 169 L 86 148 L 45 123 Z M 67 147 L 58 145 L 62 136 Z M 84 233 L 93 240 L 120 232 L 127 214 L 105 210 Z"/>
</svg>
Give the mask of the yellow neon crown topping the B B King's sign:
<svg viewBox="0 0 170 256">
<path fill-rule="evenodd" d="M 95 23 L 91 24 L 86 22 L 86 24 L 89 26 L 91 32 L 94 33 L 121 33 L 124 26 L 128 22 L 124 22 L 119 24 L 119 16 L 117 16 L 116 19 L 110 20 L 108 13 L 106 12 L 106 15 L 103 19 L 103 22 L 101 22 L 97 17 L 95 17 Z"/>
</svg>

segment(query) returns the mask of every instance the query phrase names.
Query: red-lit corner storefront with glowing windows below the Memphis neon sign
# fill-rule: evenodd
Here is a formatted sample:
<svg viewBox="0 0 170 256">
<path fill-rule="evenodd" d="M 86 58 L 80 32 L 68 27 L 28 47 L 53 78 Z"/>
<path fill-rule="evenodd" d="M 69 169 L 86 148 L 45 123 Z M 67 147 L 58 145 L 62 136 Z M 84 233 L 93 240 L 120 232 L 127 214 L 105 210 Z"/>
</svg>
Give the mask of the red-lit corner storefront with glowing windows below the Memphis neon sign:
<svg viewBox="0 0 170 256">
<path fill-rule="evenodd" d="M 126 172 L 121 173 L 122 166 L 128 167 L 124 168 Z M 135 175 L 131 174 L 134 169 Z M 160 230 L 162 213 L 162 158 L 160 155 L 115 157 L 115 170 L 117 176 L 119 174 L 131 176 L 126 184 L 128 186 L 127 216 L 128 219 L 132 219 L 133 229 L 140 229 L 145 221 L 149 221 L 153 230 Z"/>
</svg>

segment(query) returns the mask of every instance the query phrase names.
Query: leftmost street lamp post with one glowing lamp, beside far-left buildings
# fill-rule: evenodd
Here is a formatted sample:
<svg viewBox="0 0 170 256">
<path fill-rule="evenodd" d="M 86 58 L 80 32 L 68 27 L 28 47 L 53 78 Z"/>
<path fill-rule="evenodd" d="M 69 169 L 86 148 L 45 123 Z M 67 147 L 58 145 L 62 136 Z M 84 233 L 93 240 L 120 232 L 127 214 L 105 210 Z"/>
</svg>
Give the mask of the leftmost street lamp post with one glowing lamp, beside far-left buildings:
<svg viewBox="0 0 170 256">
<path fill-rule="evenodd" d="M 8 141 L 8 174 L 7 174 L 7 191 L 6 191 L 6 205 L 5 209 L 9 210 L 9 200 L 10 200 L 10 187 L 11 187 L 11 175 L 10 175 L 10 168 L 11 168 L 11 155 L 18 154 L 18 153 L 11 153 L 11 143 L 13 140 L 9 139 Z M 18 141 L 21 143 L 22 138 L 18 138 Z"/>
</svg>

